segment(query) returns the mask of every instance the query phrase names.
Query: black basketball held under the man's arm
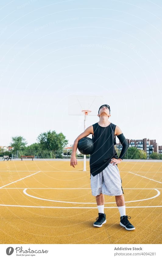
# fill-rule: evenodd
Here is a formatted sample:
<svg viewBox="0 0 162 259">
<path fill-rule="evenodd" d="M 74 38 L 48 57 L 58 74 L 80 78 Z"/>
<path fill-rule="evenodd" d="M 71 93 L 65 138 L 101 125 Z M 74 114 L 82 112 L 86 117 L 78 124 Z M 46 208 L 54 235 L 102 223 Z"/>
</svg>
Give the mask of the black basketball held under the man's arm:
<svg viewBox="0 0 162 259">
<path fill-rule="evenodd" d="M 91 138 L 81 138 L 78 142 L 79 152 L 83 155 L 90 155 L 93 152 L 94 142 Z"/>
</svg>

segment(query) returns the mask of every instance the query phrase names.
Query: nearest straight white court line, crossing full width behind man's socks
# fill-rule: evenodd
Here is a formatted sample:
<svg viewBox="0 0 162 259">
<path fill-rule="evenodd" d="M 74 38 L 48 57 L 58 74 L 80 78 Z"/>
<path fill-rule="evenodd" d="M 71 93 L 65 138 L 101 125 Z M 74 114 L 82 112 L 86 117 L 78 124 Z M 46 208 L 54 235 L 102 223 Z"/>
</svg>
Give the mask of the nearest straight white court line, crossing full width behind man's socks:
<svg viewBox="0 0 162 259">
<path fill-rule="evenodd" d="M 56 208 L 56 209 L 98 209 L 97 207 L 51 207 L 51 206 L 26 206 L 26 205 L 6 205 L 0 204 L 0 206 L 8 207 L 28 207 L 28 208 Z M 126 207 L 126 208 L 157 208 L 162 206 L 135 206 L 135 207 Z M 104 207 L 106 209 L 117 209 L 118 207 Z"/>
</svg>

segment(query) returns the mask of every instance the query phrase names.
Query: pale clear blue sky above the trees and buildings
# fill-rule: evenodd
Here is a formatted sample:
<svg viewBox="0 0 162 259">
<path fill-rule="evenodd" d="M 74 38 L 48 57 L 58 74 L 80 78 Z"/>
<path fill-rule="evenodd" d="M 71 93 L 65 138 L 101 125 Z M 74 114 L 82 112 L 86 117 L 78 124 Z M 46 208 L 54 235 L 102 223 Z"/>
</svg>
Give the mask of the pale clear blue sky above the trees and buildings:
<svg viewBox="0 0 162 259">
<path fill-rule="evenodd" d="M 1 1 L 0 146 L 44 131 L 73 143 L 69 95 L 103 95 L 126 138 L 162 145 L 162 2 Z M 87 126 L 97 116 L 87 118 Z"/>
</svg>

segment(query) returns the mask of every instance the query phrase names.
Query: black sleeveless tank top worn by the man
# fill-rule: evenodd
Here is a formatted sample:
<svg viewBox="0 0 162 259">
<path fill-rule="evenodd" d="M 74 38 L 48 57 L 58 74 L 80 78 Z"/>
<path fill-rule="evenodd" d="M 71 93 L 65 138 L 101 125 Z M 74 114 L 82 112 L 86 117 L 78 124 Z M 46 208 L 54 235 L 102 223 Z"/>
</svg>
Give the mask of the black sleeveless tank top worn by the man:
<svg viewBox="0 0 162 259">
<path fill-rule="evenodd" d="M 118 158 L 114 145 L 115 127 L 110 123 L 107 127 L 101 127 L 98 123 L 93 126 L 92 139 L 94 141 L 93 153 L 90 155 L 90 173 L 95 176 L 103 171 L 111 162 L 111 158 Z"/>
</svg>

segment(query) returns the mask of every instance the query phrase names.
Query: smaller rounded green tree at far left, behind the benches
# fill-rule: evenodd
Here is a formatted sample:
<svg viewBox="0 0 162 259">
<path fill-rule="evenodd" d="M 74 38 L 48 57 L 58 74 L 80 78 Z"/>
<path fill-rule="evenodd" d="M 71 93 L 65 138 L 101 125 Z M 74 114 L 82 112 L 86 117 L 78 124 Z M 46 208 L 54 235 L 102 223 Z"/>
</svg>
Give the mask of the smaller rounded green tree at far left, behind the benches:
<svg viewBox="0 0 162 259">
<path fill-rule="evenodd" d="M 17 150 L 19 150 L 20 154 L 23 154 L 23 150 L 25 149 L 27 142 L 22 136 L 15 136 L 12 137 L 12 142 L 9 145 L 13 147 L 13 154 L 16 154 Z"/>
</svg>

